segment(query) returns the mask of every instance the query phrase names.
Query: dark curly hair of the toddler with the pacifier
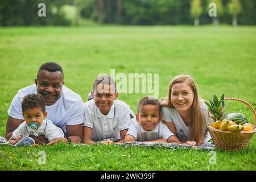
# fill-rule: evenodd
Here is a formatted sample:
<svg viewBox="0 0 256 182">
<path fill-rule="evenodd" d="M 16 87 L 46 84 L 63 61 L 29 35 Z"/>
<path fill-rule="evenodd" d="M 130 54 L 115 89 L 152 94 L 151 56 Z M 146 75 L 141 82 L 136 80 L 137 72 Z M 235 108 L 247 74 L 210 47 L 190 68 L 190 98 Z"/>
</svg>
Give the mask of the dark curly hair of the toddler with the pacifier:
<svg viewBox="0 0 256 182">
<path fill-rule="evenodd" d="M 46 102 L 40 94 L 27 94 L 22 100 L 22 112 L 26 109 L 33 109 L 35 107 L 40 107 L 43 113 L 46 112 Z"/>
</svg>

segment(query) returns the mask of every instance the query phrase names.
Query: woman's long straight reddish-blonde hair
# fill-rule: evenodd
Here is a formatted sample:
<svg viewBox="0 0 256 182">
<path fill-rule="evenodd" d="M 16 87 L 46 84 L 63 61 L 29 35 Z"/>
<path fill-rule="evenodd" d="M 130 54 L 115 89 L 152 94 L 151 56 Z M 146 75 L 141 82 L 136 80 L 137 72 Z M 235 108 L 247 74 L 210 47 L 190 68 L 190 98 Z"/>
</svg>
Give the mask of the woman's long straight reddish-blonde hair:
<svg viewBox="0 0 256 182">
<path fill-rule="evenodd" d="M 179 84 L 186 82 L 189 87 L 191 88 L 193 94 L 194 94 L 194 99 L 193 103 L 191 105 L 191 110 L 189 115 L 191 115 L 191 126 L 190 126 L 190 135 L 189 135 L 189 140 L 195 141 L 197 145 L 200 145 L 201 143 L 204 142 L 204 130 L 203 130 L 203 118 L 202 118 L 202 113 L 201 113 L 201 106 L 200 106 L 200 97 L 197 92 L 196 84 L 193 78 L 189 75 L 177 75 L 174 77 L 170 83 L 169 86 L 169 92 L 168 92 L 168 97 L 163 98 L 161 101 L 162 106 L 168 106 L 170 108 L 175 108 L 174 105 L 172 104 L 172 86 L 174 84 Z"/>
</svg>

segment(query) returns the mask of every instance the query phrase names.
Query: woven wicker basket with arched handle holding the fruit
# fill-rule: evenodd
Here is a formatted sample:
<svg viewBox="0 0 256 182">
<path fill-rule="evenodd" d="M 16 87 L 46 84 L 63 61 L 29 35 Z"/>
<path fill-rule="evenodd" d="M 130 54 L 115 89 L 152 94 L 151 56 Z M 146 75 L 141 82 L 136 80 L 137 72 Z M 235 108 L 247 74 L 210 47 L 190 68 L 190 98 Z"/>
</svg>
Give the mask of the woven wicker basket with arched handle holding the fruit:
<svg viewBox="0 0 256 182">
<path fill-rule="evenodd" d="M 235 100 L 240 101 L 253 110 L 254 113 L 254 130 L 251 131 L 241 131 L 240 133 L 232 133 L 230 131 L 221 131 L 218 129 L 215 129 L 214 127 L 210 126 L 209 124 L 209 109 L 207 110 L 207 129 L 210 133 L 210 136 L 212 137 L 215 147 L 220 150 L 226 150 L 226 151 L 236 151 L 245 149 L 248 146 L 248 143 L 253 137 L 253 134 L 256 131 L 256 111 L 248 102 L 241 100 L 240 98 L 236 97 L 225 97 L 224 100 Z"/>
</svg>

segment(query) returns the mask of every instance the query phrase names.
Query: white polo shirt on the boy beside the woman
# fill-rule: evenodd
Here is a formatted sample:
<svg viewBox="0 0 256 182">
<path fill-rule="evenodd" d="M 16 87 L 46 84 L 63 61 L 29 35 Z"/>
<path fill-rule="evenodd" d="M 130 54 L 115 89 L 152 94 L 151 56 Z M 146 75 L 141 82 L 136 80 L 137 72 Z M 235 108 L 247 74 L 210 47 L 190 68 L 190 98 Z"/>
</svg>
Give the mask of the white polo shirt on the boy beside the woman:
<svg viewBox="0 0 256 182">
<path fill-rule="evenodd" d="M 133 136 L 138 142 L 146 142 L 158 140 L 161 138 L 168 140 L 168 138 L 174 134 L 171 133 L 168 126 L 162 121 L 160 121 L 158 126 L 156 126 L 153 130 L 147 131 L 143 129 L 143 127 L 139 124 L 136 118 L 133 118 L 131 119 L 130 127 L 126 135 Z"/>
</svg>

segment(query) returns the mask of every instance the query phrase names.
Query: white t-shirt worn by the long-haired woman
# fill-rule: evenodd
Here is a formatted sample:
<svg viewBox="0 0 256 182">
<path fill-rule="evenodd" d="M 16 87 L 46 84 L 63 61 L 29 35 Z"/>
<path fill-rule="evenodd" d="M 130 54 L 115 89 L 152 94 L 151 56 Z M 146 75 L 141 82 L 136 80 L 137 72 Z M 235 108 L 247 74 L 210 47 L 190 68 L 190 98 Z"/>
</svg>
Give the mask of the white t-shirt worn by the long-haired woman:
<svg viewBox="0 0 256 182">
<path fill-rule="evenodd" d="M 205 142 L 211 139 L 209 131 L 207 130 L 207 107 L 204 102 L 201 101 L 201 113 L 203 118 L 203 129 L 205 131 Z M 176 127 L 177 138 L 181 142 L 187 142 L 189 140 L 190 127 L 186 126 L 179 111 L 175 108 L 162 107 L 162 119 L 167 122 L 174 122 Z"/>
</svg>

